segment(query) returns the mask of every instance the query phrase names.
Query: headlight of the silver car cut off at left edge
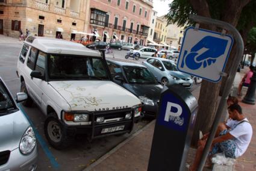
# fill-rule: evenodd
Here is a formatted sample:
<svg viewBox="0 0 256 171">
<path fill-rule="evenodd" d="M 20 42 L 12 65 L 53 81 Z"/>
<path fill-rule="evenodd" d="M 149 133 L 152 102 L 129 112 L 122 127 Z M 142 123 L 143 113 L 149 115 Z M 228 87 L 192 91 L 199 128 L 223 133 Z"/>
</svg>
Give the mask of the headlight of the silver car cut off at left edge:
<svg viewBox="0 0 256 171">
<path fill-rule="evenodd" d="M 19 150 L 22 154 L 30 154 L 36 146 L 36 136 L 31 126 L 23 134 L 20 143 Z"/>
</svg>

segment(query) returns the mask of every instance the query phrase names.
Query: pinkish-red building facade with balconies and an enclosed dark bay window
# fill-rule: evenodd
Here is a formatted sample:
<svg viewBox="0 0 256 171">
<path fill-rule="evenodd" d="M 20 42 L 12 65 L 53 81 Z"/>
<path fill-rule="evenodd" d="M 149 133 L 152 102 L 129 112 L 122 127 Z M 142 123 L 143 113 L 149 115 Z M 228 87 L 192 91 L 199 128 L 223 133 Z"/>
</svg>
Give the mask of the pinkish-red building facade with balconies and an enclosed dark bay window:
<svg viewBox="0 0 256 171">
<path fill-rule="evenodd" d="M 92 0 L 87 33 L 104 42 L 146 44 L 152 0 Z"/>
</svg>

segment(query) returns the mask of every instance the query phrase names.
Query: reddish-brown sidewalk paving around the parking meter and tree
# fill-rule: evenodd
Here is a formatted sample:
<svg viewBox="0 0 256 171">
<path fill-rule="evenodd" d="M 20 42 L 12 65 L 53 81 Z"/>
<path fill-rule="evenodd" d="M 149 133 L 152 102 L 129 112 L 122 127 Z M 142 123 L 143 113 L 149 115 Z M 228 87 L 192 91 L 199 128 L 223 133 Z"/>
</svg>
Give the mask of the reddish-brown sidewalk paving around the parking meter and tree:
<svg viewBox="0 0 256 171">
<path fill-rule="evenodd" d="M 245 67 L 240 73 L 237 72 L 234 80 L 234 95 L 236 95 L 237 86 L 247 70 L 248 67 Z M 246 90 L 246 88 L 243 88 L 243 95 L 246 94 Z M 192 93 L 197 99 L 199 97 L 199 91 L 200 89 L 198 87 L 198 89 L 195 89 Z M 241 102 L 242 98 L 243 96 L 239 98 L 239 104 L 243 108 L 243 113 L 248 117 L 254 132 L 249 148 L 242 157 L 237 158 L 235 169 L 239 171 L 256 170 L 256 117 L 254 116 L 256 115 L 256 105 L 243 104 Z M 99 158 L 85 170 L 147 170 L 154 126 L 155 120 L 140 131 L 131 135 L 130 138 Z M 187 163 L 191 164 L 194 157 L 195 149 L 190 148 Z"/>
</svg>

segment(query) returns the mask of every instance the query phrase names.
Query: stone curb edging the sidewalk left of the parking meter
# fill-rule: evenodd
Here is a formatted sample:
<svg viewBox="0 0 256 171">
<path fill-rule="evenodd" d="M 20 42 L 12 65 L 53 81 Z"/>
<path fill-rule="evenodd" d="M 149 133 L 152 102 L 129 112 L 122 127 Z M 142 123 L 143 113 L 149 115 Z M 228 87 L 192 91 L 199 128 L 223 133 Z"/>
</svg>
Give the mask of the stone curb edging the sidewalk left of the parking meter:
<svg viewBox="0 0 256 171">
<path fill-rule="evenodd" d="M 89 171 L 92 170 L 93 167 L 97 166 L 98 164 L 100 164 L 102 161 L 104 161 L 106 158 L 108 158 L 111 154 L 113 154 L 114 152 L 116 152 L 117 150 L 119 150 L 120 148 L 122 148 L 122 146 L 124 146 L 126 143 L 128 143 L 129 141 L 131 141 L 136 135 L 140 134 L 140 132 L 144 131 L 145 129 L 147 129 L 149 126 L 151 126 L 152 124 L 155 123 L 155 119 L 152 120 L 151 122 L 148 123 L 148 125 L 144 126 L 142 129 L 140 129 L 137 132 L 134 132 L 129 138 L 127 138 L 126 140 L 122 141 L 122 143 L 120 143 L 119 145 L 117 145 L 115 148 L 111 149 L 111 151 L 107 152 L 107 154 L 102 155 L 102 157 L 100 157 L 98 160 L 96 160 L 94 163 L 90 164 L 89 167 L 86 167 L 86 169 L 83 169 L 83 171 Z"/>
</svg>

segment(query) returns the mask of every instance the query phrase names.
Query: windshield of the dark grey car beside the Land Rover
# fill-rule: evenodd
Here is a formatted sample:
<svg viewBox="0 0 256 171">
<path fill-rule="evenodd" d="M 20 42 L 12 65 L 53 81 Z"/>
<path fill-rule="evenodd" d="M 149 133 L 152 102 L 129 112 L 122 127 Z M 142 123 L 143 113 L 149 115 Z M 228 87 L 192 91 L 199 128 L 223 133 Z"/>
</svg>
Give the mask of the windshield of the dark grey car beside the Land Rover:
<svg viewBox="0 0 256 171">
<path fill-rule="evenodd" d="M 123 66 L 129 83 L 154 84 L 155 77 L 145 67 Z"/>
</svg>

